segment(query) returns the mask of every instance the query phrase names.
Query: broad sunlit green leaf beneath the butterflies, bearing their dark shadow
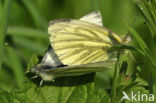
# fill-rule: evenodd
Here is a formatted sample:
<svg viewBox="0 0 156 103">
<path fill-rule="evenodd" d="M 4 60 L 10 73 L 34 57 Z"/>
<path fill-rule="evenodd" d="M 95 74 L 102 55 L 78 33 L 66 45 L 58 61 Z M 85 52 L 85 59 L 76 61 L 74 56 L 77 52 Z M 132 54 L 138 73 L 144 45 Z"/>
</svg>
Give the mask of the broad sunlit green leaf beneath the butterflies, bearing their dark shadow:
<svg viewBox="0 0 156 103">
<path fill-rule="evenodd" d="M 33 54 L 28 70 L 38 61 Z M 54 82 L 43 82 L 42 86 L 39 86 L 40 78 L 29 79 L 32 75 L 26 75 L 22 89 L 11 91 L 8 99 L 12 99 L 12 103 L 108 103 L 110 100 L 105 90 L 95 91 L 95 73 L 56 78 Z"/>
</svg>

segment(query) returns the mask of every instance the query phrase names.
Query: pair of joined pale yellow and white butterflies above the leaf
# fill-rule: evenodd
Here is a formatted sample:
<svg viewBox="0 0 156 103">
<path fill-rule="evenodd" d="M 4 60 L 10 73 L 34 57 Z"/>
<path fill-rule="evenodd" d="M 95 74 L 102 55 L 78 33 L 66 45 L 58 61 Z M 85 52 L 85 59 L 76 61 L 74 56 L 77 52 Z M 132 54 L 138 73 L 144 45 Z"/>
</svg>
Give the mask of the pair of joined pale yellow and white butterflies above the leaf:
<svg viewBox="0 0 156 103">
<path fill-rule="evenodd" d="M 49 23 L 51 46 L 42 61 L 29 71 L 42 81 L 57 77 L 78 76 L 112 69 L 116 52 L 107 49 L 125 40 L 103 27 L 99 11 L 91 12 L 79 20 L 58 19 Z"/>
</svg>

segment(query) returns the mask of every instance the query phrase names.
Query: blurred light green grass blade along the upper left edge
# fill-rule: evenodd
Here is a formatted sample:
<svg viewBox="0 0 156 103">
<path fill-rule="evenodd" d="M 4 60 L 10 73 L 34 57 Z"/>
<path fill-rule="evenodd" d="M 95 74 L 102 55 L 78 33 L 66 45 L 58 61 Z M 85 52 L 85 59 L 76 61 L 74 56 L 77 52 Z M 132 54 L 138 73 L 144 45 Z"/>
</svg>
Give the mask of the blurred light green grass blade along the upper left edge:
<svg viewBox="0 0 156 103">
<path fill-rule="evenodd" d="M 8 27 L 8 18 L 10 13 L 12 0 L 5 0 L 4 1 L 4 8 L 2 11 L 1 17 L 1 25 L 0 25 L 0 68 L 2 66 L 3 58 L 4 58 L 4 38 L 7 32 Z"/>
</svg>

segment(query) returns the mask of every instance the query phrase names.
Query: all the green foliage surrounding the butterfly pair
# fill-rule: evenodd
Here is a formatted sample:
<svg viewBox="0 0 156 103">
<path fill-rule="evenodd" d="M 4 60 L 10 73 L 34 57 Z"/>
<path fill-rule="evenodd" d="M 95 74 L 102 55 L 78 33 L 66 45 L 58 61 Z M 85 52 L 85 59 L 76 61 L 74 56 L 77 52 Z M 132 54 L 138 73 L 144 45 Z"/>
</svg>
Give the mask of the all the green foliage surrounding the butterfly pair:
<svg viewBox="0 0 156 103">
<path fill-rule="evenodd" d="M 133 1 L 0 0 L 0 102 L 117 103 L 122 91 L 156 94 L 156 1 Z M 78 19 L 94 10 L 102 13 L 104 26 L 119 35 L 130 32 L 131 46 L 111 49 L 131 50 L 135 62 L 119 60 L 115 69 L 96 73 L 95 82 L 91 73 L 57 78 L 40 87 L 40 78 L 24 75 L 49 46 L 50 20 Z"/>
</svg>

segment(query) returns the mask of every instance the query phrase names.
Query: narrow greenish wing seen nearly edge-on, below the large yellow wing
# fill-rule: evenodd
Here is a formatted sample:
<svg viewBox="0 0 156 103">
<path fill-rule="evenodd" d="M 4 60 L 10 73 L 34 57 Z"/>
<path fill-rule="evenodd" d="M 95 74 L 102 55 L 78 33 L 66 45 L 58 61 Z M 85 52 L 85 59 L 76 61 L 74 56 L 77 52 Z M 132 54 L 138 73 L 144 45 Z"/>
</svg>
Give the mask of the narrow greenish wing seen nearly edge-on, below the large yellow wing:
<svg viewBox="0 0 156 103">
<path fill-rule="evenodd" d="M 110 70 L 114 67 L 116 60 L 108 60 L 105 62 L 88 63 L 76 66 L 58 67 L 56 69 L 47 69 L 45 73 L 53 75 L 54 77 L 62 76 L 77 76 L 91 72 L 100 72 Z"/>
</svg>

